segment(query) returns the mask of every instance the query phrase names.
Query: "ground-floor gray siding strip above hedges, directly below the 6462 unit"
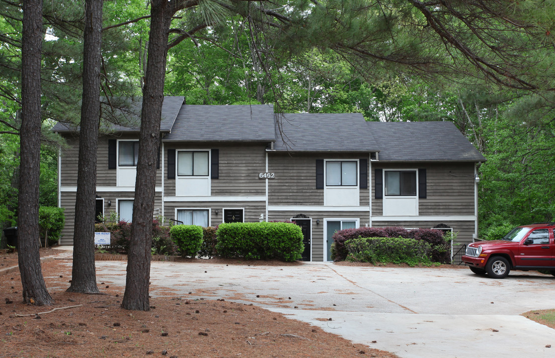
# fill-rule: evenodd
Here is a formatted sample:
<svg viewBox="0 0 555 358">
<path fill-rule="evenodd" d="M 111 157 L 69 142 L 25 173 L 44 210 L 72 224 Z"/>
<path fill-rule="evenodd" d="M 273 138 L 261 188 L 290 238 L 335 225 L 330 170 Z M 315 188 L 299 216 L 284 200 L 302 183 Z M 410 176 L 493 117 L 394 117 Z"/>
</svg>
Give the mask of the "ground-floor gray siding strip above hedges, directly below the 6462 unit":
<svg viewBox="0 0 555 358">
<path fill-rule="evenodd" d="M 244 209 L 243 220 L 245 223 L 260 221 L 260 214 L 266 213 L 263 201 L 166 201 L 164 215 L 167 220 L 176 219 L 175 209 L 208 209 L 210 210 L 210 226 L 223 223 L 224 208 Z M 216 214 L 216 210 L 218 214 Z"/>
</svg>

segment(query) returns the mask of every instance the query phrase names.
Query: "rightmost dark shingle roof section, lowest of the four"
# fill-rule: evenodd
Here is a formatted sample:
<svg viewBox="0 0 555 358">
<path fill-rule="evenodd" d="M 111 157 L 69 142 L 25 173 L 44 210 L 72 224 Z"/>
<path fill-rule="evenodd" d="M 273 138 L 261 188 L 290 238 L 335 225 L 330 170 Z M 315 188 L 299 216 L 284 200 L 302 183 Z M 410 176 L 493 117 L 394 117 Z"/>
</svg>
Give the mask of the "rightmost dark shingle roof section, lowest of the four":
<svg viewBox="0 0 555 358">
<path fill-rule="evenodd" d="M 380 161 L 485 162 L 452 122 L 366 122 Z"/>
</svg>

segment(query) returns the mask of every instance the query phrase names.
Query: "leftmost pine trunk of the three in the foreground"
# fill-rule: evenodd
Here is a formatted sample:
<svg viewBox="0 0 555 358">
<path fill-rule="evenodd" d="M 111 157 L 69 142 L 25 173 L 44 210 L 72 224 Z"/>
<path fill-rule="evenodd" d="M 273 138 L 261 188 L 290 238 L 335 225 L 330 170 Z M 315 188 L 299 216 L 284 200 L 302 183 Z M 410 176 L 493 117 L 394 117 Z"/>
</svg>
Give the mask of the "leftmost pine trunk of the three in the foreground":
<svg viewBox="0 0 555 358">
<path fill-rule="evenodd" d="M 18 258 L 23 302 L 50 305 L 39 255 L 38 196 L 41 156 L 42 0 L 23 1 L 21 169 Z"/>
</svg>

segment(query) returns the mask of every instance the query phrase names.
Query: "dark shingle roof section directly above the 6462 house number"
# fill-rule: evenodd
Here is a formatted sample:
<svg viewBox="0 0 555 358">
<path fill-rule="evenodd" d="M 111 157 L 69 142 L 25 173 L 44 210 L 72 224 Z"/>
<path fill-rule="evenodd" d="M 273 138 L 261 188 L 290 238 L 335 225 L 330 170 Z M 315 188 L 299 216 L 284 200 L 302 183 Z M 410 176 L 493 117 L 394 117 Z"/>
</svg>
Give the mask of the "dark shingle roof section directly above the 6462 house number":
<svg viewBox="0 0 555 358">
<path fill-rule="evenodd" d="M 164 141 L 270 142 L 275 139 L 274 107 L 257 105 L 183 105 Z"/>
</svg>

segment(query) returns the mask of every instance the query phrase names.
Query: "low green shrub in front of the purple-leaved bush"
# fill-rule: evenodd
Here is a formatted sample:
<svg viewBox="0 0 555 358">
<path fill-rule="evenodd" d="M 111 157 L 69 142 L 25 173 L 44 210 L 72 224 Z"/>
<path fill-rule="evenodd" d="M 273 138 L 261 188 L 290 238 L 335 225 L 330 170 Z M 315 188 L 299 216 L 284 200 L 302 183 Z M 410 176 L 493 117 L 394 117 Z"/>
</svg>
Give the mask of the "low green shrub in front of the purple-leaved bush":
<svg viewBox="0 0 555 358">
<path fill-rule="evenodd" d="M 347 260 L 376 263 L 431 265 L 432 245 L 403 238 L 356 238 L 345 241 Z"/>
</svg>

